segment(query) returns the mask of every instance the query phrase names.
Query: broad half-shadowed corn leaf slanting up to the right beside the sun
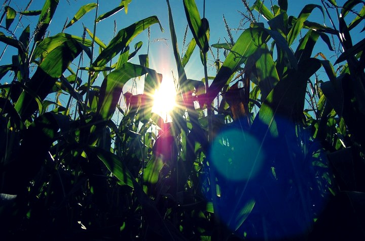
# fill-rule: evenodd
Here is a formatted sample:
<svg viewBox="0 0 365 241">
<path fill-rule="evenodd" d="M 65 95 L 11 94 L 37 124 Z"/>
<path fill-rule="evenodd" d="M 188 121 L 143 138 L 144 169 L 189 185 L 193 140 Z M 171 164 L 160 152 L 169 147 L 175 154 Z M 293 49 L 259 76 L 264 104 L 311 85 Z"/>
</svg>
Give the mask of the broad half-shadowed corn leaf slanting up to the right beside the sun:
<svg viewBox="0 0 365 241">
<path fill-rule="evenodd" d="M 262 28 L 249 28 L 243 31 L 209 86 L 206 93 L 206 103 L 213 101 L 231 75 L 259 49 L 259 46 L 263 44 L 263 39 L 268 36 L 269 34 Z"/>
</svg>

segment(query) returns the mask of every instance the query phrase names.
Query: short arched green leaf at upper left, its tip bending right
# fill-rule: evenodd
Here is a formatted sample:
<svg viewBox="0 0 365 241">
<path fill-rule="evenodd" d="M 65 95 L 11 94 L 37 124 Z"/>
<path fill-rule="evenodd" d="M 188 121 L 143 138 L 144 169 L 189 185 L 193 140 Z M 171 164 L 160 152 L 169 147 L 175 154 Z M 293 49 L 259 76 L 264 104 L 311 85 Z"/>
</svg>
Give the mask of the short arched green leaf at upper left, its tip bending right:
<svg viewBox="0 0 365 241">
<path fill-rule="evenodd" d="M 78 43 L 80 46 L 91 46 L 91 40 L 89 39 L 83 39 L 82 37 L 71 35 L 68 33 L 58 33 L 54 36 L 45 38 L 36 46 L 33 54 L 33 59 L 39 57 L 46 58 L 49 53 L 67 42 Z"/>
</svg>

